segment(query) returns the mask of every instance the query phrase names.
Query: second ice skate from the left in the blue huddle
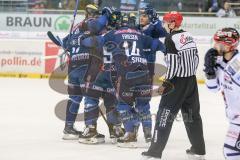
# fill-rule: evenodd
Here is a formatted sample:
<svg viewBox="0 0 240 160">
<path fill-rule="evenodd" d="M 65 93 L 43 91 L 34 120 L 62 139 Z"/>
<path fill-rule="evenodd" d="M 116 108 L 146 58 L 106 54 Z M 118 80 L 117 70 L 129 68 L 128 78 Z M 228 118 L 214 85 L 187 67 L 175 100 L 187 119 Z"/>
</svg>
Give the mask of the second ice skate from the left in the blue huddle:
<svg viewBox="0 0 240 160">
<path fill-rule="evenodd" d="M 88 125 L 79 136 L 79 143 L 99 144 L 105 142 L 105 136 L 97 132 L 96 126 Z"/>
</svg>

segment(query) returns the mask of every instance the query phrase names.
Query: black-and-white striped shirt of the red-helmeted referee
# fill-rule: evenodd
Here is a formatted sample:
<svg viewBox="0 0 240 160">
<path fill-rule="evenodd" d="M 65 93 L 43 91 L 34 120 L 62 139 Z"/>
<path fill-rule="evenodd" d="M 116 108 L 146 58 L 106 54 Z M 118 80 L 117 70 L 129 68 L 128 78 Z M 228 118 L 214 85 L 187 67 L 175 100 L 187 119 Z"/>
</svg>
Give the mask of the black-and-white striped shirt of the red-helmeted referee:
<svg viewBox="0 0 240 160">
<path fill-rule="evenodd" d="M 190 33 L 173 31 L 165 39 L 166 79 L 196 75 L 199 64 L 196 43 Z"/>
</svg>

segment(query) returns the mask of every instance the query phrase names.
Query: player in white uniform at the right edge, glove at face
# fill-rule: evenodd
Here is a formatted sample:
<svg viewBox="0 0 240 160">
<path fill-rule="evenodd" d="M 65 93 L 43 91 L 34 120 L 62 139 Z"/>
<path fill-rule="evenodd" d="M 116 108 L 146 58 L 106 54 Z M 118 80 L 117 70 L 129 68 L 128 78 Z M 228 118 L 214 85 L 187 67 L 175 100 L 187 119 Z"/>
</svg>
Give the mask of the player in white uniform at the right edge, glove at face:
<svg viewBox="0 0 240 160">
<path fill-rule="evenodd" d="M 222 92 L 229 128 L 224 143 L 226 160 L 240 159 L 240 53 L 239 33 L 222 28 L 214 37 L 215 45 L 205 55 L 204 72 L 207 88 Z"/>
</svg>

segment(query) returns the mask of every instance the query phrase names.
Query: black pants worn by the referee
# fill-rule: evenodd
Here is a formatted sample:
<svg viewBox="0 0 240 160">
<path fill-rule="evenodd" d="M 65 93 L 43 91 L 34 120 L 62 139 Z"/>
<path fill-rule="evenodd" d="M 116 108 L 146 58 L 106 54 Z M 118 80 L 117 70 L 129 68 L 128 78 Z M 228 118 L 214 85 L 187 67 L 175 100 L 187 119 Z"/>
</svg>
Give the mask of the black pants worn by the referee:
<svg viewBox="0 0 240 160">
<path fill-rule="evenodd" d="M 205 142 L 203 137 L 202 119 L 196 76 L 187 78 L 175 77 L 170 82 L 174 90 L 162 96 L 154 136 L 148 150 L 153 157 L 162 157 L 167 144 L 173 121 L 181 110 L 191 150 L 199 155 L 205 155 Z"/>
</svg>

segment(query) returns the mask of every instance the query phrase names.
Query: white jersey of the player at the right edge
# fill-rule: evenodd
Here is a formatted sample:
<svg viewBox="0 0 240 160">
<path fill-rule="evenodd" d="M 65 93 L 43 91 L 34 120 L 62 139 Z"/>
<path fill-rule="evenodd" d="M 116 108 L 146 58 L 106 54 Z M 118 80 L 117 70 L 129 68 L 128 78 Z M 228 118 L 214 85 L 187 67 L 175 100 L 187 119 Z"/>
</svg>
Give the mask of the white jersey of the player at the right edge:
<svg viewBox="0 0 240 160">
<path fill-rule="evenodd" d="M 222 92 L 227 118 L 231 123 L 240 124 L 240 53 L 228 62 L 218 57 L 216 75 L 215 79 L 207 80 L 206 85 L 213 92 Z"/>
</svg>

